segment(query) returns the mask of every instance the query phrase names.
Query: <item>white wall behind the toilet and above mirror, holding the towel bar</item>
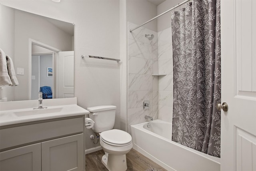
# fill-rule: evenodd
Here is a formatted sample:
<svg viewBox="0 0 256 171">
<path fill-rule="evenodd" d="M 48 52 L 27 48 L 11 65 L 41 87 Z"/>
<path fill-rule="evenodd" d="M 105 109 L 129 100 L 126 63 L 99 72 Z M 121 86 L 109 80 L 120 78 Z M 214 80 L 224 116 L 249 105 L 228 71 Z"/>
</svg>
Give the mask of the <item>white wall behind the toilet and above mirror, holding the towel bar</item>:
<svg viewBox="0 0 256 171">
<path fill-rule="evenodd" d="M 2 4 L 75 24 L 74 93 L 81 107 L 116 105 L 116 128 L 120 128 L 120 64 L 80 56 L 90 54 L 120 58 L 119 1 L 2 0 Z M 86 129 L 86 149 L 99 146 Z"/>
</svg>

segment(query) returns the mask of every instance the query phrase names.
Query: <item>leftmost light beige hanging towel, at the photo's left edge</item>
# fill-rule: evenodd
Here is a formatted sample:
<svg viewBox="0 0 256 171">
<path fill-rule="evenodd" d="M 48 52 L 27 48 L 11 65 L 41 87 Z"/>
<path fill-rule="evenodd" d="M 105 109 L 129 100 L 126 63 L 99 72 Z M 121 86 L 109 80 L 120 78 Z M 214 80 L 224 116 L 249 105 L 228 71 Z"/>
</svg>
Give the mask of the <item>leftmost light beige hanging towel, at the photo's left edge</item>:
<svg viewBox="0 0 256 171">
<path fill-rule="evenodd" d="M 0 86 L 9 85 L 12 85 L 12 82 L 8 74 L 6 56 L 4 51 L 0 49 Z"/>
</svg>

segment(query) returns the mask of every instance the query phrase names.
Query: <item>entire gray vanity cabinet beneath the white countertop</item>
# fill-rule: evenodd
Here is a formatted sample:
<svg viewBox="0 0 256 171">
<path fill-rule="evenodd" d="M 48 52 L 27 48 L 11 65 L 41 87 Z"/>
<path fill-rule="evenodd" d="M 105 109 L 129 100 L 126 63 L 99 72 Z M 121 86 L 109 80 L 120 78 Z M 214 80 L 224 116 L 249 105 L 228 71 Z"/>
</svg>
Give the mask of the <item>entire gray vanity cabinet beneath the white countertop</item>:
<svg viewBox="0 0 256 171">
<path fill-rule="evenodd" d="M 83 171 L 84 115 L 0 127 L 0 171 Z"/>
</svg>

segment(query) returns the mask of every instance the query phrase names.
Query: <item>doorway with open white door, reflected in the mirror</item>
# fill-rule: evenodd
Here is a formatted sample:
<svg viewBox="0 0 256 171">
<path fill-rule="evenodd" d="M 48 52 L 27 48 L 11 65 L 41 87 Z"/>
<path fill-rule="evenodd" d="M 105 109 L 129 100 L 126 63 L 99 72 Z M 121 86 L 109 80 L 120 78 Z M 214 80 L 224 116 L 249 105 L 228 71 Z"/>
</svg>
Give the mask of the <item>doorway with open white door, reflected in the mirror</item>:
<svg viewBox="0 0 256 171">
<path fill-rule="evenodd" d="M 43 99 L 74 97 L 74 51 L 64 51 L 31 41 L 30 99 L 38 99 L 42 88 L 50 91 Z M 52 96 L 51 96 L 52 95 Z"/>
</svg>

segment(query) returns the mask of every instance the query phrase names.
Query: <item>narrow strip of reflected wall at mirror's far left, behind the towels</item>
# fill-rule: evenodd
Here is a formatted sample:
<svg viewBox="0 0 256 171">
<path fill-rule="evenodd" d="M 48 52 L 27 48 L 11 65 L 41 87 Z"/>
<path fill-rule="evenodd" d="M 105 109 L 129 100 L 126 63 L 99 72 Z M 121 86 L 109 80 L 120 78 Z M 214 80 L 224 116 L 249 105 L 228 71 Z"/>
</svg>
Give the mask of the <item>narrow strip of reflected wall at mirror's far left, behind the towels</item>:
<svg viewBox="0 0 256 171">
<path fill-rule="evenodd" d="M 0 48 L 14 61 L 14 9 L 0 5 Z M 0 94 L 8 101 L 14 100 L 14 87 L 0 88 Z M 1 99 L 0 96 L 0 99 Z"/>
</svg>

